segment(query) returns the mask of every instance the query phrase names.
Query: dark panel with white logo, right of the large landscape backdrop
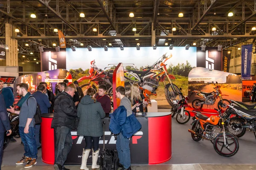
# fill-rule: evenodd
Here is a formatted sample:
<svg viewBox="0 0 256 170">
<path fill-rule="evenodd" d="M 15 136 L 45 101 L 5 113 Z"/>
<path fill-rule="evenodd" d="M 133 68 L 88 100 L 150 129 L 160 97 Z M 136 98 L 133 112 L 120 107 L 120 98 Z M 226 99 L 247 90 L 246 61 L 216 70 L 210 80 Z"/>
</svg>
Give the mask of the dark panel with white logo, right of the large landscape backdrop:
<svg viewBox="0 0 256 170">
<path fill-rule="evenodd" d="M 221 51 L 218 48 L 207 47 L 205 51 L 201 47 L 196 48 L 197 51 L 197 67 L 209 68 L 221 71 Z"/>
</svg>

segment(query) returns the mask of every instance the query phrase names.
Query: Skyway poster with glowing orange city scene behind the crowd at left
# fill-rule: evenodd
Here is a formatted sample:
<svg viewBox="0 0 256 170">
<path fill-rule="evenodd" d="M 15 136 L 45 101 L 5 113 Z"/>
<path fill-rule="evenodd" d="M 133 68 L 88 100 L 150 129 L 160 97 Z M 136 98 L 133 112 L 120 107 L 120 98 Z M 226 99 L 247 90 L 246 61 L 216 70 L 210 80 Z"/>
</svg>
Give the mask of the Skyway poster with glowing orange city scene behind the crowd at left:
<svg viewBox="0 0 256 170">
<path fill-rule="evenodd" d="M 64 79 L 68 79 L 69 82 L 72 82 L 72 76 L 71 74 L 65 70 L 65 69 L 56 69 L 51 71 L 43 71 L 33 74 L 26 74 L 20 77 L 17 77 L 17 79 L 14 82 L 14 96 L 15 96 L 15 103 L 17 104 L 18 100 L 20 99 L 20 96 L 17 94 L 17 87 L 16 85 L 20 83 L 26 83 L 29 85 L 29 92 L 33 94 L 37 86 L 40 82 L 46 82 L 47 83 L 47 89 L 49 91 L 52 91 L 55 94 L 55 89 L 58 86 L 58 82 L 63 82 Z"/>
</svg>

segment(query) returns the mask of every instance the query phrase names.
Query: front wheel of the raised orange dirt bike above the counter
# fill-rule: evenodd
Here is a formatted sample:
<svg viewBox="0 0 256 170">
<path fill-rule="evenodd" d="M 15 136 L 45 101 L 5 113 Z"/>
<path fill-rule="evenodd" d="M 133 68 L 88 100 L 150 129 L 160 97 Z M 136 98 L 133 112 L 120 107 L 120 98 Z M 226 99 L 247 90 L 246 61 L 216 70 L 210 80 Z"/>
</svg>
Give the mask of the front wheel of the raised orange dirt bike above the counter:
<svg viewBox="0 0 256 170">
<path fill-rule="evenodd" d="M 177 87 L 177 85 L 175 84 L 167 84 L 166 87 L 164 88 L 164 94 L 166 96 L 166 100 L 169 103 L 170 106 L 173 106 L 173 102 L 174 100 L 178 100 L 180 101 L 182 99 L 182 96 L 180 94 L 175 94 L 175 92 L 173 91 L 171 85 L 173 85 L 173 88 L 175 89 L 176 92 L 180 93 L 180 89 Z"/>
</svg>

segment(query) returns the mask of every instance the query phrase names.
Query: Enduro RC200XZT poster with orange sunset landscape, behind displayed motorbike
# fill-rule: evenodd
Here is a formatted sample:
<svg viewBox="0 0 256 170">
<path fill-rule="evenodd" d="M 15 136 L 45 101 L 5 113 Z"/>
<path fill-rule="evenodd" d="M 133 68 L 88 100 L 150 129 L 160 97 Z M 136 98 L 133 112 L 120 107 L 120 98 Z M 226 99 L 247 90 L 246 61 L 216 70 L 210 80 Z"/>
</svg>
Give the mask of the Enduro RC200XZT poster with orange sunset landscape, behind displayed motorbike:
<svg viewBox="0 0 256 170">
<path fill-rule="evenodd" d="M 207 96 L 212 95 L 203 108 L 218 108 L 220 96 L 216 95 L 217 86 L 223 99 L 241 102 L 242 81 L 238 75 L 197 67 L 189 72 L 189 103 L 193 106 L 196 99 L 204 101 Z"/>
</svg>

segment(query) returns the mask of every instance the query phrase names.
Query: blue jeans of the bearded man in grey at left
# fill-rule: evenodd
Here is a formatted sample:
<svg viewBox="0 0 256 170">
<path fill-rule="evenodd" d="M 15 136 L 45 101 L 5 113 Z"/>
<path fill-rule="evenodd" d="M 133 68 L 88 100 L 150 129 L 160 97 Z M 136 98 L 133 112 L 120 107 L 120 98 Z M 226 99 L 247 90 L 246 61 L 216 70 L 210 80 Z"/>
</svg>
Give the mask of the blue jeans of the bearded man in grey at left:
<svg viewBox="0 0 256 170">
<path fill-rule="evenodd" d="M 25 127 L 19 127 L 20 138 L 24 144 L 24 156 L 37 159 L 37 146 L 35 141 L 35 127 L 29 127 L 29 133 L 24 133 Z"/>
</svg>

